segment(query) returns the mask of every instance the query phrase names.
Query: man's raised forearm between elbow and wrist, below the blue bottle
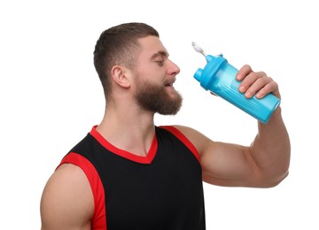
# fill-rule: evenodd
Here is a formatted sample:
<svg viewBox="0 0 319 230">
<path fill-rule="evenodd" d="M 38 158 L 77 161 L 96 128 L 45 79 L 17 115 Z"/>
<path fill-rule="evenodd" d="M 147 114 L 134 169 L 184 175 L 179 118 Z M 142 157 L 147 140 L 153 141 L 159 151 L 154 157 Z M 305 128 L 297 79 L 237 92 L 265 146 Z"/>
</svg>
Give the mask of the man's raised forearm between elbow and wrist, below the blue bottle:
<svg viewBox="0 0 319 230">
<path fill-rule="evenodd" d="M 261 176 L 270 184 L 278 183 L 288 174 L 291 146 L 281 108 L 278 107 L 267 124 L 258 124 L 258 134 L 251 145 L 251 154 Z"/>
</svg>

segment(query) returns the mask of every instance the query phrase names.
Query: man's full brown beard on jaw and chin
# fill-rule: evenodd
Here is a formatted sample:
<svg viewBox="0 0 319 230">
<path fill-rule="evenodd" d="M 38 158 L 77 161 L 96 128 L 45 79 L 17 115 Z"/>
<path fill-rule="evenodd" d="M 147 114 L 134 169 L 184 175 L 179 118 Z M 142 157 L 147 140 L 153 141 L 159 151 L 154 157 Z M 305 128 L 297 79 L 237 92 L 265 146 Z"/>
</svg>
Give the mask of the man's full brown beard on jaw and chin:
<svg viewBox="0 0 319 230">
<path fill-rule="evenodd" d="M 138 80 L 137 80 L 138 79 Z M 181 108 L 183 97 L 173 88 L 173 96 L 165 85 L 155 85 L 136 76 L 136 102 L 146 111 L 162 115 L 175 115 Z"/>
</svg>

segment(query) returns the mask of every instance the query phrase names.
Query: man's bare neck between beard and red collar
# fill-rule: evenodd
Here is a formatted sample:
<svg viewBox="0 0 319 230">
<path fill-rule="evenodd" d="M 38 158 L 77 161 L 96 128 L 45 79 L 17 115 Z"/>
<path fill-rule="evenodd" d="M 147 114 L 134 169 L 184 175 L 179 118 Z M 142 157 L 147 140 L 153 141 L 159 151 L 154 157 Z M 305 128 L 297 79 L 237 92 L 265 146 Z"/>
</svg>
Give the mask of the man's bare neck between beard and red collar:
<svg viewBox="0 0 319 230">
<path fill-rule="evenodd" d="M 105 107 L 105 116 L 97 132 L 119 149 L 145 156 L 155 134 L 154 113 L 126 104 Z"/>
</svg>

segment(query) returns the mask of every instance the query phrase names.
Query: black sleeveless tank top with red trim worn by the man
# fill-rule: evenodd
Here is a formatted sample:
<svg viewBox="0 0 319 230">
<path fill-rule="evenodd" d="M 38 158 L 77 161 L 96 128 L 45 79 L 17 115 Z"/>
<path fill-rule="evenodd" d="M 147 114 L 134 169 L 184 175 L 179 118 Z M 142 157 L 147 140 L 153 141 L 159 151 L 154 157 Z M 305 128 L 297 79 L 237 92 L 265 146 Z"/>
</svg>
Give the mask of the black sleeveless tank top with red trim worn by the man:
<svg viewBox="0 0 319 230">
<path fill-rule="evenodd" d="M 156 126 L 146 157 L 117 149 L 96 126 L 64 157 L 86 173 L 92 229 L 206 229 L 198 151 L 174 126 Z"/>
</svg>

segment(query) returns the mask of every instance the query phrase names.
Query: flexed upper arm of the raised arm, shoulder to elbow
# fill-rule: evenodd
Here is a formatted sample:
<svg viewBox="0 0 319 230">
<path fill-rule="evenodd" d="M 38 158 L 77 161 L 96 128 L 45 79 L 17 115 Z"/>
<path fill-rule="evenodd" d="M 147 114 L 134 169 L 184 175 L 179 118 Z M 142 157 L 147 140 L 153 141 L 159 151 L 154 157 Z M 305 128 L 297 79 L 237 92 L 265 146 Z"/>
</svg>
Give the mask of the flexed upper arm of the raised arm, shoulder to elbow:
<svg viewBox="0 0 319 230">
<path fill-rule="evenodd" d="M 249 147 L 214 142 L 185 126 L 176 126 L 198 149 L 203 180 L 220 186 L 254 187 L 260 178 Z"/>
</svg>

